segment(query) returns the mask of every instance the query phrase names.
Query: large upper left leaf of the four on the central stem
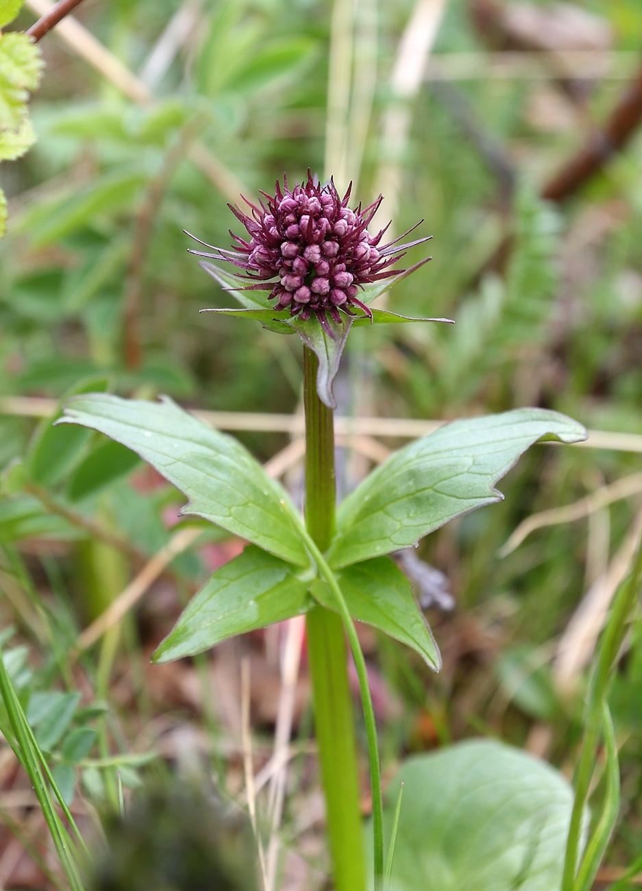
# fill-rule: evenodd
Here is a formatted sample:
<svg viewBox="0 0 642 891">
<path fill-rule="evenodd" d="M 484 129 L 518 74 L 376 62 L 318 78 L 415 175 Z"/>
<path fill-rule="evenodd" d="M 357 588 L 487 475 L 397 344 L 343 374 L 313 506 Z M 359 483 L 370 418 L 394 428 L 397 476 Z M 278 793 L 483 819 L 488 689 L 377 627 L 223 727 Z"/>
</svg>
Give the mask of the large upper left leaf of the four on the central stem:
<svg viewBox="0 0 642 891">
<path fill-rule="evenodd" d="M 190 499 L 183 513 L 208 519 L 297 566 L 309 565 L 285 490 L 240 442 L 167 396 L 160 402 L 74 396 L 65 415 L 62 422 L 100 430 L 150 462 Z"/>
</svg>

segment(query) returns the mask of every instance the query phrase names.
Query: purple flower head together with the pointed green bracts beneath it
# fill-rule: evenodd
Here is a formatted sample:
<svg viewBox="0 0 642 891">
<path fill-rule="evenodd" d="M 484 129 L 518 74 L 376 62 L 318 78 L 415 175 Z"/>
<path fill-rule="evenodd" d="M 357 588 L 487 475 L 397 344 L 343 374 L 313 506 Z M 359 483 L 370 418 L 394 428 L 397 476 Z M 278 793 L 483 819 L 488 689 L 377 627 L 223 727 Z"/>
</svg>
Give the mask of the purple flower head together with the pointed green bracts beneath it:
<svg viewBox="0 0 642 891">
<path fill-rule="evenodd" d="M 329 408 L 337 404 L 332 392 L 345 340 L 353 325 L 368 323 L 451 322 L 451 319 L 412 319 L 370 304 L 394 282 L 424 266 L 426 257 L 408 269 L 392 269 L 409 248 L 430 241 L 432 236 L 398 244 L 420 225 L 387 244 L 386 233 L 375 235 L 368 225 L 381 204 L 381 196 L 369 207 L 348 208 L 351 187 L 343 198 L 332 180 L 321 186 L 308 170 L 305 184 L 290 191 L 288 177 L 283 188 L 277 181 L 274 195 L 262 192 L 267 202 L 260 207 L 248 203 L 251 216 L 232 205 L 228 207 L 248 231 L 249 240 L 230 231 L 232 250 L 211 248 L 213 253 L 191 250 L 208 259 L 223 260 L 245 270 L 230 274 L 207 260 L 200 266 L 224 290 L 236 297 L 243 309 L 208 309 L 203 312 L 249 317 L 272 331 L 296 331 L 319 361 L 317 389 L 321 402 Z M 186 233 L 190 234 L 190 233 Z M 195 236 L 191 235 L 191 238 Z M 261 291 L 269 291 L 262 298 Z M 271 301 L 276 301 L 270 307 Z"/>
</svg>

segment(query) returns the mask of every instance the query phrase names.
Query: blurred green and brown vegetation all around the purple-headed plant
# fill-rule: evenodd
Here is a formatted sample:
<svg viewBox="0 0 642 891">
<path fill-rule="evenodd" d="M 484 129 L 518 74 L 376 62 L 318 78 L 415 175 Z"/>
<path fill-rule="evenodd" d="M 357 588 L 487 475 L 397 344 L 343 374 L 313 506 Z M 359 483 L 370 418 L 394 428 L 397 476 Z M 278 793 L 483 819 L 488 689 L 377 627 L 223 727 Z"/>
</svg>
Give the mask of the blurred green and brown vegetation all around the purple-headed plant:
<svg viewBox="0 0 642 891">
<path fill-rule="evenodd" d="M 40 44 L 37 143 L 0 166 L 0 643 L 72 813 L 88 831 L 109 825 L 121 784 L 127 807 L 143 782 L 170 784 L 162 794 L 183 813 L 169 777 L 200 764 L 222 797 L 212 832 L 229 855 L 225 834 L 243 830 L 228 803 L 246 795 L 241 701 L 260 775 L 292 693 L 279 887 L 323 887 L 305 650 L 298 680 L 280 665 L 278 627 L 149 666 L 181 604 L 240 543 L 192 521 L 177 542 L 174 489 L 106 439 L 51 426 L 66 394 L 107 387 L 201 410 L 297 413 L 299 339 L 199 316 L 229 301 L 187 253 L 183 228 L 226 246 L 228 200 L 308 167 L 334 171 L 340 186 L 353 179 L 364 203 L 383 191 L 394 233 L 425 218 L 434 259 L 387 306 L 457 321 L 354 331 L 340 413 L 450 419 L 541 405 L 597 431 L 593 447 L 536 446 L 503 484 L 504 503 L 422 544 L 418 556 L 443 573 L 418 577 L 441 674 L 362 629 L 384 775 L 410 752 L 483 735 L 570 776 L 586 667 L 642 527 L 635 121 L 591 176 L 553 186 L 639 80 L 639 4 L 337 0 L 332 12 L 316 0 L 85 0 L 75 15 L 85 30 L 65 20 Z M 36 18 L 26 4 L 9 28 Z M 265 462 L 279 454 L 297 493 L 297 434 L 284 423 L 244 414 L 223 427 Z M 345 488 L 405 441 L 385 433 L 342 450 Z M 521 521 L 571 503 L 501 550 Z M 171 562 L 168 544 L 181 551 Z M 158 554 L 162 571 L 136 608 L 79 638 Z M 604 881 L 639 853 L 641 636 L 638 622 L 611 697 L 622 809 Z M 60 883 L 6 743 L 0 789 L 0 885 Z"/>
</svg>

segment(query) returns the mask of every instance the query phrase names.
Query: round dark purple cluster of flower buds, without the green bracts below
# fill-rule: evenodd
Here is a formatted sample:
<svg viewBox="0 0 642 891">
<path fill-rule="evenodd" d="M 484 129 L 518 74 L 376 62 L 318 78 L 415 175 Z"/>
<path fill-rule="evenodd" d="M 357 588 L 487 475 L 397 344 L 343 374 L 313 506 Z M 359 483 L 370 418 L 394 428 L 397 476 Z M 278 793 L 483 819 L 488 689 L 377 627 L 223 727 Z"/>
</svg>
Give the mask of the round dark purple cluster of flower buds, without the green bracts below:
<svg viewBox="0 0 642 891">
<path fill-rule="evenodd" d="M 314 313 L 334 336 L 328 315 L 340 323 L 342 313 L 355 315 L 354 308 L 359 307 L 371 317 L 370 309 L 359 299 L 363 286 L 402 272 L 389 267 L 406 248 L 427 241 L 422 238 L 394 247 L 400 241 L 396 239 L 381 245 L 387 226 L 376 235 L 368 232 L 381 196 L 368 208 L 362 209 L 360 204 L 351 210 L 347 206 L 351 188 L 341 198 L 332 180 L 321 186 L 308 170 L 307 182 L 297 183 L 290 191 L 288 178 L 283 176 L 283 188 L 277 180 L 273 197 L 261 192 L 266 203 L 259 201 L 260 208 L 243 199 L 251 216 L 228 205 L 248 230 L 248 240 L 230 231 L 233 250 L 191 252 L 240 266 L 247 271 L 241 278 L 253 282 L 240 290 L 269 290 L 276 312 L 288 310 L 289 315 L 304 320 Z"/>
</svg>

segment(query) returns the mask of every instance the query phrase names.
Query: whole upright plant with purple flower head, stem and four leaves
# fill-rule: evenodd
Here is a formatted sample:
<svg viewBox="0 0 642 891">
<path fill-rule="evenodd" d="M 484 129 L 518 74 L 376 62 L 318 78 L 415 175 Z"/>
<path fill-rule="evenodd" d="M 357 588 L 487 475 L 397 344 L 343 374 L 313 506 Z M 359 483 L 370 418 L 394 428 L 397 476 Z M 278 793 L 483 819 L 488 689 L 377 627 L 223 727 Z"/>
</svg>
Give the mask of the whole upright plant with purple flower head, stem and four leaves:
<svg viewBox="0 0 642 891">
<path fill-rule="evenodd" d="M 249 241 L 204 256 L 228 260 L 246 276 L 204 268 L 232 290 L 241 309 L 305 341 L 305 523 L 287 492 L 232 437 L 211 429 L 167 397 L 152 403 L 90 394 L 69 399 L 68 423 L 100 430 L 133 449 L 187 495 L 197 514 L 249 546 L 218 569 L 160 644 L 155 662 L 191 656 L 233 634 L 305 614 L 314 717 L 337 891 L 363 891 L 365 867 L 345 636 L 359 676 L 372 789 L 374 886 L 384 878 L 377 728 L 354 620 L 419 652 L 435 671 L 439 650 L 408 579 L 389 553 L 416 544 L 450 519 L 501 500 L 497 481 L 541 437 L 576 442 L 586 431 L 557 412 L 522 408 L 454 421 L 392 454 L 336 510 L 332 380 L 351 325 L 405 322 L 372 309 L 382 290 L 422 264 L 394 272 L 405 249 L 380 247 L 368 223 L 378 201 L 347 208 L 334 184 L 308 176 L 290 192 L 232 208 Z M 426 262 L 426 261 L 423 261 Z M 279 281 L 275 281 L 278 277 Z M 256 293 L 270 291 L 262 300 Z M 276 301 L 270 307 L 269 301 Z M 361 315 L 359 314 L 361 310 Z M 423 320 L 426 321 L 426 320 Z M 436 320 L 431 320 L 436 321 Z"/>
</svg>

